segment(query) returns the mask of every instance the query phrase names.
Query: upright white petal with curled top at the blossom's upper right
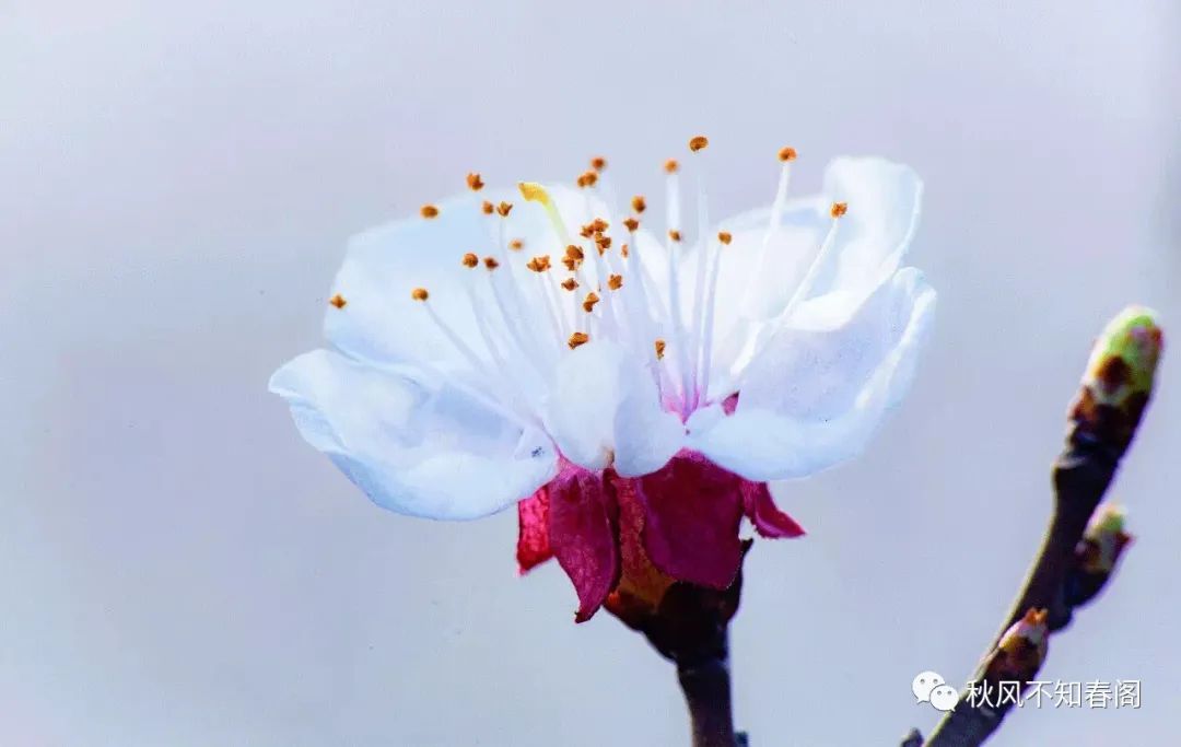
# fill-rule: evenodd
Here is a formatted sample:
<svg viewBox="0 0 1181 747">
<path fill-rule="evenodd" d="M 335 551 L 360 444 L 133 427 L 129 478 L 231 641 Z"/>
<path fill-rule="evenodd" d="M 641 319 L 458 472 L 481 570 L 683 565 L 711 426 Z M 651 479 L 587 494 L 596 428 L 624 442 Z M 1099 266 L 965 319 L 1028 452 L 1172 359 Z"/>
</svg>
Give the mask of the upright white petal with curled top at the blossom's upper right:
<svg viewBox="0 0 1181 747">
<path fill-rule="evenodd" d="M 918 228 L 922 182 L 899 163 L 843 157 L 824 174 L 824 196 L 848 203 L 848 213 L 810 291 L 792 310 L 797 327 L 843 325 L 898 271 Z"/>
</svg>

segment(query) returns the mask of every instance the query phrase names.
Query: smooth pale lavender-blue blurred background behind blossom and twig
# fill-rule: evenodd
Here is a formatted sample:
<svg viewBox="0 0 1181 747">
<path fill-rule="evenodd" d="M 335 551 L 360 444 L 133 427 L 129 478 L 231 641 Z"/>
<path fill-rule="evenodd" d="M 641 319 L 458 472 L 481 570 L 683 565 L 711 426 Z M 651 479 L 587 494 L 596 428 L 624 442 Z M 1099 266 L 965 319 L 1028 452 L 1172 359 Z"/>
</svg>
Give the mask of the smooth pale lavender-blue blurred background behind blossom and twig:
<svg viewBox="0 0 1181 747">
<path fill-rule="evenodd" d="M 777 488 L 733 625 L 757 747 L 896 745 L 971 674 L 1043 531 L 1090 342 L 1181 338 L 1175 2 L 0 0 L 0 743 L 686 745 L 670 664 L 516 518 L 371 505 L 267 378 L 319 346 L 347 236 L 459 191 L 616 189 L 711 138 L 715 215 L 877 154 L 926 182 L 940 293 L 863 459 Z M 1052 7 L 1051 7 L 1052 6 Z M 1181 709 L 1181 377 L 1113 495 L 1136 544 L 1043 676 L 1140 710 L 1016 713 L 996 745 L 1150 745 Z M 965 573 L 972 579 L 965 584 Z"/>
</svg>

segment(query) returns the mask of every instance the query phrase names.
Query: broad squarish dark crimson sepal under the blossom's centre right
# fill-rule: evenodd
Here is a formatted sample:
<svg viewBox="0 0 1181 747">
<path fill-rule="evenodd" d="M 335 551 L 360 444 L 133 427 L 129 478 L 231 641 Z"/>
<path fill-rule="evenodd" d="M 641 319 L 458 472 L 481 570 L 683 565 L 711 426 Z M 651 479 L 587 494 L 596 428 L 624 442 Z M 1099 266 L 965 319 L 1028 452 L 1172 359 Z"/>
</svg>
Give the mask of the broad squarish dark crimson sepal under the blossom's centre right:
<svg viewBox="0 0 1181 747">
<path fill-rule="evenodd" d="M 742 480 L 696 452 L 637 478 L 644 502 L 644 546 L 677 580 L 726 589 L 742 564 Z"/>
</svg>

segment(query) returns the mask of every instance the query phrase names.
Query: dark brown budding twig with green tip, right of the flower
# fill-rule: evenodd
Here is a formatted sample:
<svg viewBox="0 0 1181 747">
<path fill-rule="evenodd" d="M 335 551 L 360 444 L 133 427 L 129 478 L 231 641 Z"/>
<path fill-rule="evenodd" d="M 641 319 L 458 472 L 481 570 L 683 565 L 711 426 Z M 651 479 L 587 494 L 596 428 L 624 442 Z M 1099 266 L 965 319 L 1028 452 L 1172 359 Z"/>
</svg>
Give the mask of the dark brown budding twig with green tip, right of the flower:
<svg viewBox="0 0 1181 747">
<path fill-rule="evenodd" d="M 1110 577 L 1128 538 L 1118 521 L 1107 521 L 1114 514 L 1097 508 L 1148 403 L 1160 350 L 1160 329 L 1140 308 L 1124 311 L 1100 337 L 1055 462 L 1053 512 L 1042 547 L 959 704 L 926 742 L 912 730 L 903 747 L 976 747 L 988 739 L 1013 702 L 983 702 L 972 684 L 1019 682 L 1024 690 L 1045 661 L 1049 634 L 1064 628 Z"/>
</svg>

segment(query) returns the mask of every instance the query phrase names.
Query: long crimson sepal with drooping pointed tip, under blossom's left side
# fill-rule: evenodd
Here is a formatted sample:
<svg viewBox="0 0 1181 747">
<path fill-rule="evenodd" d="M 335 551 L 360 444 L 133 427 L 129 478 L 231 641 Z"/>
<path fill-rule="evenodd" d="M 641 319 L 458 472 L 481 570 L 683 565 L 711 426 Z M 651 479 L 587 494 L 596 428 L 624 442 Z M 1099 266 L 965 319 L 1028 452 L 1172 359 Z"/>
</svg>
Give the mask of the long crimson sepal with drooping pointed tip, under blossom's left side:
<svg viewBox="0 0 1181 747">
<path fill-rule="evenodd" d="M 548 486 L 549 544 L 574 584 L 574 622 L 590 619 L 619 582 L 619 506 L 601 473 L 567 463 Z"/>
</svg>

